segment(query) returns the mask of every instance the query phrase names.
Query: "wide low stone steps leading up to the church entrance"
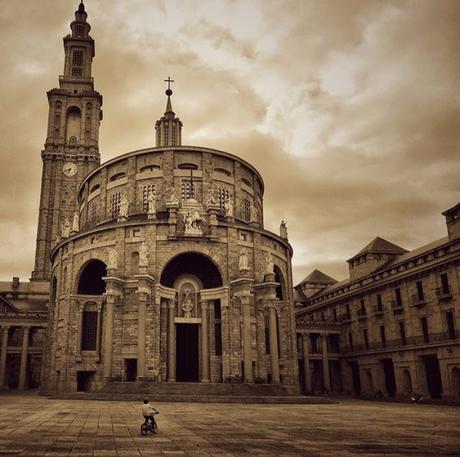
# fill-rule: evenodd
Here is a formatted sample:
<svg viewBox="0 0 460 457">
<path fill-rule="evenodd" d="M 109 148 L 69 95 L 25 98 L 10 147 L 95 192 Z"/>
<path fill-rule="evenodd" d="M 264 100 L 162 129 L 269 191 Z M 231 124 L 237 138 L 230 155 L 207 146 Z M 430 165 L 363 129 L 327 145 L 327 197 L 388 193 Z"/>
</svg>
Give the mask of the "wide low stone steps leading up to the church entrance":
<svg viewBox="0 0 460 457">
<path fill-rule="evenodd" d="M 97 392 L 58 394 L 58 398 L 181 403 L 266 403 L 321 404 L 333 403 L 322 396 L 305 396 L 281 385 L 197 382 L 120 382 L 112 381 Z"/>
</svg>

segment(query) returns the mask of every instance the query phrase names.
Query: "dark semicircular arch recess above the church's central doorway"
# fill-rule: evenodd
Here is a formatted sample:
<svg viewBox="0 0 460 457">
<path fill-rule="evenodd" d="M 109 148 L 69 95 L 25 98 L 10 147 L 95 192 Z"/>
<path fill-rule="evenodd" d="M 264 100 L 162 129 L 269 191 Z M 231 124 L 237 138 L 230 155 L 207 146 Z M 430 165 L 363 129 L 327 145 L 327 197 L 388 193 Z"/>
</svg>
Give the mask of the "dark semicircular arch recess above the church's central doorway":
<svg viewBox="0 0 460 457">
<path fill-rule="evenodd" d="M 196 276 L 204 289 L 222 287 L 222 275 L 217 265 L 199 252 L 185 252 L 173 257 L 164 267 L 160 283 L 174 287 L 175 280 L 182 275 Z"/>
</svg>

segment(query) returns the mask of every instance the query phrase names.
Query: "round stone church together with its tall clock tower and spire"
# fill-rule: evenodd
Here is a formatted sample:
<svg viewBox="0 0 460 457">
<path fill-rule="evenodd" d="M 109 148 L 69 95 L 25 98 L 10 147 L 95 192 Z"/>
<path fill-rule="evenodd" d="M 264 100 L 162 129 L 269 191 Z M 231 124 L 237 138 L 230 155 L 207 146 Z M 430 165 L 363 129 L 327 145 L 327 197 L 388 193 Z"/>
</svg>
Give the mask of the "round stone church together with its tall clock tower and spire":
<svg viewBox="0 0 460 457">
<path fill-rule="evenodd" d="M 6 359 L 28 351 L 16 357 L 17 386 L 28 384 L 30 330 L 5 319 L 17 311 L 29 329 L 14 304 L 22 291 L 35 327 L 47 332 L 34 369 L 43 391 L 131 381 L 296 391 L 293 251 L 284 227 L 281 236 L 264 229 L 262 177 L 237 156 L 182 145 L 169 86 L 155 147 L 100 165 L 102 96 L 89 33 L 81 3 L 64 38 L 59 88 L 48 92 L 31 282 L 16 292 L 0 284 L 0 381 L 14 387 Z"/>
</svg>

